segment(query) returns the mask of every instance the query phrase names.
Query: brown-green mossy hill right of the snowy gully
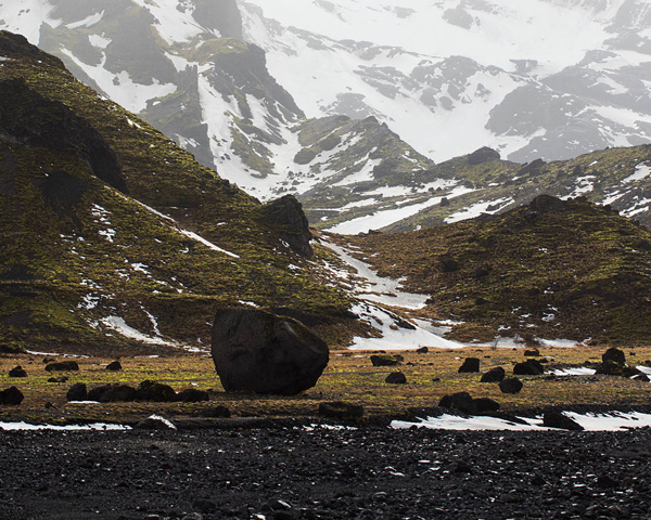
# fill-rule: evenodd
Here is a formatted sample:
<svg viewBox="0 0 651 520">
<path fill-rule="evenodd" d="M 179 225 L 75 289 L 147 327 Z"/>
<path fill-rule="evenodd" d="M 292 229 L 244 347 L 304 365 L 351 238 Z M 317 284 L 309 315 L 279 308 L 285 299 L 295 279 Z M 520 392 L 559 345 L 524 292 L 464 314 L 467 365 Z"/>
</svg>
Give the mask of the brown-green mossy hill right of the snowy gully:
<svg viewBox="0 0 651 520">
<path fill-rule="evenodd" d="M 381 274 L 431 295 L 425 314 L 464 322 L 451 338 L 631 344 L 651 333 L 651 232 L 583 198 L 347 239 Z"/>
</svg>

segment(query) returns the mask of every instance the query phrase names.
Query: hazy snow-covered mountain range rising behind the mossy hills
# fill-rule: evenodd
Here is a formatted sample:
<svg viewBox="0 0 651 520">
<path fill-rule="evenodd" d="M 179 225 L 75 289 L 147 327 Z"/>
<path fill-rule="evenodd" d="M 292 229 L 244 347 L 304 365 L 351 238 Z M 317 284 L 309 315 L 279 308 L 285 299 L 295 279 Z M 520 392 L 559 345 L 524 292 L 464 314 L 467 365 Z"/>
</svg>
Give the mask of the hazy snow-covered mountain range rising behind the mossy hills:
<svg viewBox="0 0 651 520">
<path fill-rule="evenodd" d="M 321 227 L 412 229 L 544 191 L 648 218 L 647 177 L 622 184 L 647 152 L 608 176 L 448 159 L 651 142 L 651 0 L 0 0 L 0 28 Z"/>
</svg>

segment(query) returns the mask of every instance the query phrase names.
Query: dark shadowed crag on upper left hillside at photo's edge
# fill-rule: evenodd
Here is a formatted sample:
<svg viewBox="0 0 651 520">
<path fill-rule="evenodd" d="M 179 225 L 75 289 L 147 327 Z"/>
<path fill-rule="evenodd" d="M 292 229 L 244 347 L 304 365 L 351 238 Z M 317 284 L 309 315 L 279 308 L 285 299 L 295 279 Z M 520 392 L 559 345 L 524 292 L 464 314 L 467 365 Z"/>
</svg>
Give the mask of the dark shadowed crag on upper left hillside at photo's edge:
<svg viewBox="0 0 651 520">
<path fill-rule="evenodd" d="M 72 152 L 106 184 L 127 193 L 115 152 L 85 119 L 23 80 L 0 81 L 0 135 L 27 146 Z"/>
</svg>

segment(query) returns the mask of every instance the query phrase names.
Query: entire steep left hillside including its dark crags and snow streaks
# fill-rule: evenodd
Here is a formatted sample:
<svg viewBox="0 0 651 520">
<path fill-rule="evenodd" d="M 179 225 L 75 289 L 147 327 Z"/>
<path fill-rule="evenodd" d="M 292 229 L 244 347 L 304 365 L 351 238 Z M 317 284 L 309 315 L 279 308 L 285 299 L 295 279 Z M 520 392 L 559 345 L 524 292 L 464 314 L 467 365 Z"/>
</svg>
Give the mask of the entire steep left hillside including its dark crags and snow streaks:
<svg viewBox="0 0 651 520">
<path fill-rule="evenodd" d="M 4 350 L 202 349 L 224 304 L 349 335 L 295 199 L 260 205 L 22 37 L 0 56 Z"/>
</svg>

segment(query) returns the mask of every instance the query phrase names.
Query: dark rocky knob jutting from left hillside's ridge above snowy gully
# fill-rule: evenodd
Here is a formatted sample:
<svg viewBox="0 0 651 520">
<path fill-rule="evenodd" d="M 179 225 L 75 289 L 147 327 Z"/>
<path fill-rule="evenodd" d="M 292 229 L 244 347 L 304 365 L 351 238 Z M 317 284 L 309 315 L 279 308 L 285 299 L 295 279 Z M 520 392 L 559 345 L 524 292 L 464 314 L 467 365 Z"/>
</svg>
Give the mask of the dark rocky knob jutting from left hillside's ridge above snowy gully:
<svg viewBox="0 0 651 520">
<path fill-rule="evenodd" d="M 261 207 L 260 211 L 267 222 L 276 224 L 280 236 L 292 246 L 292 249 L 306 258 L 314 251 L 309 245 L 311 233 L 303 206 L 293 195 L 285 195 Z"/>
</svg>

